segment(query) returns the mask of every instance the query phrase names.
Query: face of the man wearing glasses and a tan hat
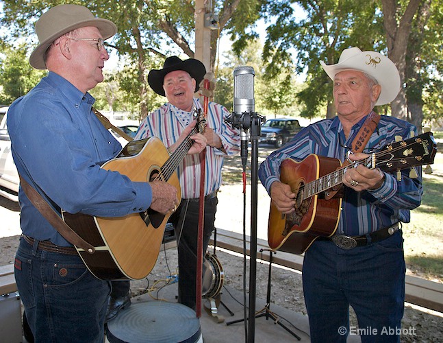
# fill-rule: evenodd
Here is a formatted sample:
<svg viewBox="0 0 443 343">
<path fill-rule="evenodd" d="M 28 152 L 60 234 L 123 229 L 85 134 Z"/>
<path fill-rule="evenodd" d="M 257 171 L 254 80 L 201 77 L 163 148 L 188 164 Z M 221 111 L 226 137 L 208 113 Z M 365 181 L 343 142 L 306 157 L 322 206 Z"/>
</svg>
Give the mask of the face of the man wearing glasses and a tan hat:
<svg viewBox="0 0 443 343">
<path fill-rule="evenodd" d="M 103 38 L 97 27 L 81 27 L 75 30 L 71 38 Z M 105 60 L 109 59 L 109 54 L 105 47 L 99 50 L 97 41 L 67 39 L 69 51 L 72 54 L 74 78 L 77 80 L 77 87 L 81 91 L 89 91 L 103 81 L 103 67 Z"/>
</svg>

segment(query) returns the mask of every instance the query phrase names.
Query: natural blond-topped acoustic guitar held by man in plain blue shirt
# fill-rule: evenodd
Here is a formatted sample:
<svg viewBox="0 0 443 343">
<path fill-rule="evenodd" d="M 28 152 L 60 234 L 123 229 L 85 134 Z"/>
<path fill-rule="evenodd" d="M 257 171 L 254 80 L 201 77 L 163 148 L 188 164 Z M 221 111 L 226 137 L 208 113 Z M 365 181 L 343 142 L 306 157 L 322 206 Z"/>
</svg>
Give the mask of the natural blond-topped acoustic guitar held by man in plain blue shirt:
<svg viewBox="0 0 443 343">
<path fill-rule="evenodd" d="M 118 171 L 134 182 L 163 180 L 177 189 L 177 198 L 181 199 L 177 167 L 192 146 L 190 136 L 203 132 L 205 126 L 201 110 L 196 110 L 194 117 L 197 125 L 170 156 L 162 141 L 151 137 L 129 142 L 118 156 L 101 167 Z M 164 229 L 172 213 L 162 215 L 148 209 L 124 217 L 94 217 L 62 211 L 62 217 L 81 238 L 94 246 L 92 254 L 75 247 L 94 276 L 102 280 L 140 280 L 151 272 L 157 261 Z"/>
</svg>

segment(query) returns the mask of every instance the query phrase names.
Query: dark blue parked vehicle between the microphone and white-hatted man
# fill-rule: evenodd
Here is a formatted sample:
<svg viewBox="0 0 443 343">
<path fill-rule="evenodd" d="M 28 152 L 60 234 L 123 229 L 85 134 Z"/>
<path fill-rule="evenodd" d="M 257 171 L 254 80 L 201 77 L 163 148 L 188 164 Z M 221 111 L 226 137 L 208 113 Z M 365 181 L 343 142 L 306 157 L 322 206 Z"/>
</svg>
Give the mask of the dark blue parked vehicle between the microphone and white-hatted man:
<svg viewBox="0 0 443 343">
<path fill-rule="evenodd" d="M 275 147 L 287 143 L 301 130 L 297 119 L 277 118 L 266 120 L 261 127 L 262 134 L 259 143 L 273 144 Z"/>
</svg>

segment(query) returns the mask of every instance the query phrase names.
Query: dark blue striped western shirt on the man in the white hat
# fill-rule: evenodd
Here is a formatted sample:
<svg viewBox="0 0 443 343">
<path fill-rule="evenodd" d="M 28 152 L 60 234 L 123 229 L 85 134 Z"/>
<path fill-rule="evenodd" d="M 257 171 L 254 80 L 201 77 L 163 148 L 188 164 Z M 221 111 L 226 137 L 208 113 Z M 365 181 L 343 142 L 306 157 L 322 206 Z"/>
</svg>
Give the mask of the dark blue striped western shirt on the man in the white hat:
<svg viewBox="0 0 443 343">
<path fill-rule="evenodd" d="M 309 154 L 317 154 L 344 161 L 365 119 L 353 126 L 348 139 L 338 117 L 318 121 L 301 130 L 290 143 L 270 154 L 260 165 L 259 177 L 268 193 L 270 185 L 279 180 L 280 164 L 285 158 L 302 161 Z M 395 136 L 407 139 L 416 133 L 415 126 L 407 121 L 382 115 L 363 152 L 377 152 L 394 142 Z M 372 191 L 356 192 L 344 187 L 338 233 L 364 235 L 396 222 L 409 222 L 409 210 L 420 205 L 422 196 L 421 167 L 416 169 L 418 178 L 409 178 L 408 168 L 402 171 L 401 181 L 396 180 L 395 174 L 383 171 L 383 185 Z"/>
</svg>

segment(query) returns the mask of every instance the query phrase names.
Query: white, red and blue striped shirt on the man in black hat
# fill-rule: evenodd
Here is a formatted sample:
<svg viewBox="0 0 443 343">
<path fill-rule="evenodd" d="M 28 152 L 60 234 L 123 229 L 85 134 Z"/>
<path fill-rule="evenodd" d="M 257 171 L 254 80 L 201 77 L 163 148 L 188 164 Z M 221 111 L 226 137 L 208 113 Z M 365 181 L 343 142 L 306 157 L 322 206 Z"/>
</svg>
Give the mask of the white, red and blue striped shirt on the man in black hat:
<svg viewBox="0 0 443 343">
<path fill-rule="evenodd" d="M 202 108 L 199 99 L 194 98 L 194 106 Z M 185 126 L 177 115 L 177 108 L 166 103 L 142 120 L 136 139 L 158 137 L 166 147 L 173 145 Z M 224 119 L 229 111 L 215 102 L 210 102 L 207 109 L 206 126 L 212 128 L 220 137 L 226 154 L 215 147 L 206 147 L 205 196 L 216 191 L 222 182 L 221 169 L 225 156 L 234 156 L 240 152 L 239 131 L 229 127 Z M 201 167 L 199 154 L 186 155 L 178 168 L 181 198 L 199 198 Z"/>
</svg>

